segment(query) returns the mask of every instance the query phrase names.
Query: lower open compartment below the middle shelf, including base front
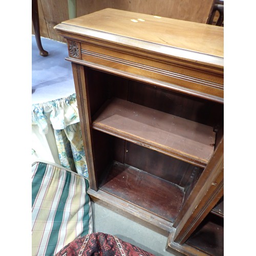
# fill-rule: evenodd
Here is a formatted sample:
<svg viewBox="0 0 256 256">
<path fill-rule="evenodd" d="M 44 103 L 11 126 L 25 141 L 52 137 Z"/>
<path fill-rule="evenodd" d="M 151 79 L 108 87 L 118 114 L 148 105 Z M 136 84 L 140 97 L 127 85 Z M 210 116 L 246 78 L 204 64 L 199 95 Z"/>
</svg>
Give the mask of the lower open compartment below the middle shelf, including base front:
<svg viewBox="0 0 256 256">
<path fill-rule="evenodd" d="M 97 190 L 88 194 L 122 210 L 136 208 L 169 231 L 203 168 L 95 129 L 92 134 Z"/>
</svg>

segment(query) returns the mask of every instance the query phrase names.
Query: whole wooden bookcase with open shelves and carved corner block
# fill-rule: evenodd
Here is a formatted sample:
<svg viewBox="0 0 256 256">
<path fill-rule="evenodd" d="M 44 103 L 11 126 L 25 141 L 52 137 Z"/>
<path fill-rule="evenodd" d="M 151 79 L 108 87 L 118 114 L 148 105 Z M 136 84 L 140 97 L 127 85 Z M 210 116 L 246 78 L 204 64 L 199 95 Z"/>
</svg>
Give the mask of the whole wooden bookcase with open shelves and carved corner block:
<svg viewBox="0 0 256 256">
<path fill-rule="evenodd" d="M 219 253 L 223 28 L 104 9 L 55 29 L 68 42 L 92 200 L 165 234 L 166 249 Z M 214 230 L 216 248 L 199 243 Z"/>
</svg>

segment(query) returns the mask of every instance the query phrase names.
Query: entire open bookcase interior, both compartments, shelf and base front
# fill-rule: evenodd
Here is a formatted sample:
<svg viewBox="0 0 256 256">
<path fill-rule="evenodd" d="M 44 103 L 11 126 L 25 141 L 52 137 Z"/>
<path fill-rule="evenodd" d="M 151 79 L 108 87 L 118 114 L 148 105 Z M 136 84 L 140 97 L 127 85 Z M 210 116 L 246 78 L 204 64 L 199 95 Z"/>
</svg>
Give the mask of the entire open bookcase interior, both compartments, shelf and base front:
<svg viewBox="0 0 256 256">
<path fill-rule="evenodd" d="M 85 71 L 93 153 L 88 194 L 150 228 L 154 222 L 156 231 L 171 231 L 219 143 L 222 105 Z"/>
</svg>

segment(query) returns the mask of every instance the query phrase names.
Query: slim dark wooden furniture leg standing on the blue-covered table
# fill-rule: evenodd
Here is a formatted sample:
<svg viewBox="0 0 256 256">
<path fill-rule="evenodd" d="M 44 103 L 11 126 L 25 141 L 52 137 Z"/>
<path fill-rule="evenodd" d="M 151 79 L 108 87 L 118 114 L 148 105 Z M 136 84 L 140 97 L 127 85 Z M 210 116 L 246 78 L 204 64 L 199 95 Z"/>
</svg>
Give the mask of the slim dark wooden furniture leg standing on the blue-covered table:
<svg viewBox="0 0 256 256">
<path fill-rule="evenodd" d="M 35 30 L 35 39 L 36 39 L 37 47 L 39 49 L 39 53 L 41 56 L 44 56 L 44 57 L 48 56 L 48 52 L 42 48 L 42 44 L 41 44 L 37 0 L 32 0 L 32 23 Z"/>
</svg>

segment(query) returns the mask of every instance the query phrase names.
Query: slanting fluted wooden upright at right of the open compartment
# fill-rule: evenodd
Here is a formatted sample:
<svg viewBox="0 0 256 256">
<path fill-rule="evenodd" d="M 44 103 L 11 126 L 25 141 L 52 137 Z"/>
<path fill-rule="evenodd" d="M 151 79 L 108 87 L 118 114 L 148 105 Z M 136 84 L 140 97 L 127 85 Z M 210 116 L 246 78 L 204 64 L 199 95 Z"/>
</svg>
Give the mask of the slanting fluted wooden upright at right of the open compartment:
<svg viewBox="0 0 256 256">
<path fill-rule="evenodd" d="M 174 242 L 183 244 L 224 193 L 224 139 L 200 176 L 174 222 Z"/>
</svg>

